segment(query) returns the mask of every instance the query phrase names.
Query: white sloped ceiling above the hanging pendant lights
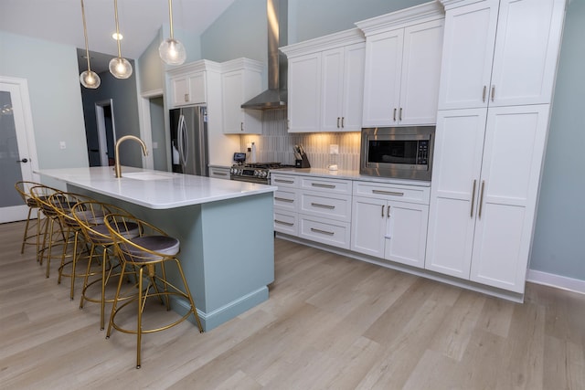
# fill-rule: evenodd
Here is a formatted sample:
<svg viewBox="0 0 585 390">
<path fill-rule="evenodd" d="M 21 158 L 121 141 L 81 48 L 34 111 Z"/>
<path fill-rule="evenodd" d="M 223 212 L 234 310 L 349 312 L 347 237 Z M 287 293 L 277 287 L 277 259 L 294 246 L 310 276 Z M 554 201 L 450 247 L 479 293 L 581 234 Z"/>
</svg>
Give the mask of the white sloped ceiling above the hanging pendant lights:
<svg viewBox="0 0 585 390">
<path fill-rule="evenodd" d="M 174 29 L 196 35 L 207 29 L 234 0 L 174 0 Z M 118 47 L 112 38 L 116 30 L 113 0 L 84 0 L 91 69 L 100 71 Z M 122 33 L 122 57 L 139 58 L 165 25 L 169 36 L 168 0 L 118 0 Z M 0 0 L 0 30 L 36 37 L 85 49 L 80 0 Z M 94 57 L 96 57 L 94 59 Z"/>
</svg>

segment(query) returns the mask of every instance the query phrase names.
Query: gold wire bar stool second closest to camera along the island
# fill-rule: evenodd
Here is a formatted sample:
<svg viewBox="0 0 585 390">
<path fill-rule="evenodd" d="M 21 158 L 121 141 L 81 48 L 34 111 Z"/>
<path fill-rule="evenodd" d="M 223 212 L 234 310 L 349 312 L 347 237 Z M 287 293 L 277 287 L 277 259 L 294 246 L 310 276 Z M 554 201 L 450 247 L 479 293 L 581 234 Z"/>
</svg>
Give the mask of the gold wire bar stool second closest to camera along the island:
<svg viewBox="0 0 585 390">
<path fill-rule="evenodd" d="M 87 300 L 94 303 L 100 303 L 100 329 L 103 331 L 105 326 L 105 304 L 113 302 L 112 298 L 106 298 L 106 286 L 110 279 L 120 277 L 121 262 L 113 250 L 113 239 L 110 230 L 104 225 L 103 219 L 107 214 L 118 214 L 130 216 L 125 210 L 118 206 L 104 204 L 98 201 L 80 202 L 71 208 L 73 216 L 85 237 L 85 241 L 90 246 L 90 256 L 88 269 L 83 279 L 83 288 L 81 290 L 80 309 L 83 309 L 83 303 Z M 128 223 L 120 227 L 125 237 L 138 237 L 138 224 Z M 94 265 L 100 266 L 99 272 L 92 272 Z M 118 269 L 118 270 L 116 270 Z M 90 280 L 90 276 L 98 274 L 99 277 Z M 117 279 L 115 279 L 117 281 Z M 99 294 L 96 294 L 92 287 L 101 287 Z M 133 284 L 134 286 L 134 284 Z M 96 297 L 97 295 L 97 297 Z M 121 295 L 121 300 L 136 295 L 134 288 L 129 293 Z"/>
</svg>

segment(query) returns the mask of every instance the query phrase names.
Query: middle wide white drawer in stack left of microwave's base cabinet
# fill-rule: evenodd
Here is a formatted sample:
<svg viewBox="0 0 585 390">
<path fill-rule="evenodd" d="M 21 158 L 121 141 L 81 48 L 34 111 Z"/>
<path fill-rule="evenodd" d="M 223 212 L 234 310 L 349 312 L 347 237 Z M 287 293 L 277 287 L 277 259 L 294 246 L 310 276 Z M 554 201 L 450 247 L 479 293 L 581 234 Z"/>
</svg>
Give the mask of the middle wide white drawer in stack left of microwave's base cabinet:
<svg viewBox="0 0 585 390">
<path fill-rule="evenodd" d="M 299 197 L 300 213 L 346 222 L 351 220 L 351 195 L 332 196 L 304 191 Z"/>
</svg>

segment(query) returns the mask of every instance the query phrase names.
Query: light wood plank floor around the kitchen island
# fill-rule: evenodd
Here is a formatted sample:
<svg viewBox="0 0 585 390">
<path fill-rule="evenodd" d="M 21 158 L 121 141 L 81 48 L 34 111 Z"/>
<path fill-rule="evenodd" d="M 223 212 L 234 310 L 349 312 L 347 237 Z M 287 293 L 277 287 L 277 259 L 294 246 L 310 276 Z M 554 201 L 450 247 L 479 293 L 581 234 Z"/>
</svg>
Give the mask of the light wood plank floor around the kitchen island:
<svg viewBox="0 0 585 390">
<path fill-rule="evenodd" d="M 524 304 L 276 241 L 270 300 L 200 334 L 99 330 L 23 223 L 0 225 L 3 389 L 583 389 L 585 296 L 528 284 Z M 164 312 L 161 315 L 176 315 Z"/>
</svg>

